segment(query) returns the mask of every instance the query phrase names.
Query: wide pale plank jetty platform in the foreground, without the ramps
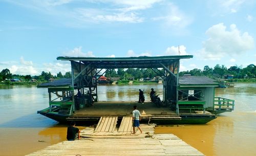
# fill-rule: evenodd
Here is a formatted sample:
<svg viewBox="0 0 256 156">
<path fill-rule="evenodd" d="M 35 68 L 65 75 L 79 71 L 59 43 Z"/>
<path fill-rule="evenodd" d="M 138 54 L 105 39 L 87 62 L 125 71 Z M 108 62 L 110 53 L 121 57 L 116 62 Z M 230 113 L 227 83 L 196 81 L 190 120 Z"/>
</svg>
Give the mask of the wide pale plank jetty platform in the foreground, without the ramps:
<svg viewBox="0 0 256 156">
<path fill-rule="evenodd" d="M 149 138 L 90 138 L 63 141 L 32 155 L 203 155 L 173 134 Z"/>
</svg>

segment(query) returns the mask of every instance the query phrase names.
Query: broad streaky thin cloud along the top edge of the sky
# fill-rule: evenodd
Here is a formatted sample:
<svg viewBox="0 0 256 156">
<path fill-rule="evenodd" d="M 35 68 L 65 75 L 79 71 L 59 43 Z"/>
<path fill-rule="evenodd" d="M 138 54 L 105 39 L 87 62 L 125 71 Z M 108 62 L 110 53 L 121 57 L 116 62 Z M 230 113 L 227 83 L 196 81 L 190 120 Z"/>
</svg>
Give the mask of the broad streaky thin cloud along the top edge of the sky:
<svg viewBox="0 0 256 156">
<path fill-rule="evenodd" d="M 141 10 L 151 8 L 162 0 L 47 0 L 10 3 L 50 15 L 55 23 L 71 27 L 85 27 L 84 24 L 110 22 L 141 23 L 144 20 Z M 66 5 L 69 4 L 69 5 Z M 75 4 L 75 5 L 73 5 Z M 97 5 L 95 5 L 97 4 Z"/>
</svg>

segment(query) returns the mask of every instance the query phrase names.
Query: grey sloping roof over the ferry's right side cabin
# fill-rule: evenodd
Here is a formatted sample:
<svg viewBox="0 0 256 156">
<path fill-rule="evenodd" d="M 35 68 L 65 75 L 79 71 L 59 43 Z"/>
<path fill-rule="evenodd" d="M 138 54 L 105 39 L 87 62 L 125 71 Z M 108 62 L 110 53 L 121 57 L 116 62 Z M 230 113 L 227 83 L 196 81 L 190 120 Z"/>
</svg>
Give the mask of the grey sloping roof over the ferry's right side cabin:
<svg viewBox="0 0 256 156">
<path fill-rule="evenodd" d="M 183 76 L 179 77 L 180 85 L 218 85 L 216 80 L 205 76 Z"/>
</svg>

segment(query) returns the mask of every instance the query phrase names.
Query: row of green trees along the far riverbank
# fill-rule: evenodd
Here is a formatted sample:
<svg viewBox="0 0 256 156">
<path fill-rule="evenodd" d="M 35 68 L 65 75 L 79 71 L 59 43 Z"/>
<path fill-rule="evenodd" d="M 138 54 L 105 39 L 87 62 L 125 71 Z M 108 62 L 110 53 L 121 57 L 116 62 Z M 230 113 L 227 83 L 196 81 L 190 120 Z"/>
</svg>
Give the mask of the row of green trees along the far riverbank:
<svg viewBox="0 0 256 156">
<path fill-rule="evenodd" d="M 161 71 L 163 73 L 163 69 Z M 241 68 L 241 66 L 230 66 L 227 69 L 225 65 L 217 64 L 214 68 L 210 68 L 208 65 L 204 66 L 204 69 L 193 69 L 190 71 L 180 72 L 179 75 L 183 76 L 184 74 L 190 74 L 191 76 L 208 76 L 214 77 L 215 74 L 218 74 L 220 77 L 224 77 L 224 75 L 233 75 L 233 78 L 255 78 L 256 77 L 256 66 L 254 64 L 249 64 L 246 68 Z M 129 78 L 134 78 L 138 80 L 140 78 L 154 78 L 159 76 L 152 69 L 110 69 L 105 72 L 105 77 L 120 77 L 121 80 L 127 80 Z M 0 81 L 3 80 L 11 80 L 11 79 L 19 79 L 22 81 L 31 81 L 31 79 L 35 79 L 37 81 L 49 81 L 50 79 L 60 79 L 60 78 L 71 78 L 71 72 L 66 72 L 65 75 L 62 75 L 61 72 L 57 73 L 55 76 L 51 74 L 51 72 L 42 71 L 38 76 L 31 75 L 16 75 L 12 74 L 9 69 L 4 69 L 0 73 Z"/>
</svg>

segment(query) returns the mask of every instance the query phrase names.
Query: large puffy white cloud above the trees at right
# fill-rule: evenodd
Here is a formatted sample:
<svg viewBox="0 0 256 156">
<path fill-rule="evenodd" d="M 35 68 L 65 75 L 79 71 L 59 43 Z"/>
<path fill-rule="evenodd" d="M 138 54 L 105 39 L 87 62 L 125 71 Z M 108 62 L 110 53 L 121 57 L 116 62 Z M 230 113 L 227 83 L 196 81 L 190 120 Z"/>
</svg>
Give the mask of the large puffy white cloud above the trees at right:
<svg viewBox="0 0 256 156">
<path fill-rule="evenodd" d="M 220 60 L 224 56 L 240 55 L 254 48 L 254 39 L 248 32 L 241 33 L 236 25 L 226 30 L 223 23 L 214 25 L 206 31 L 209 37 L 203 41 L 203 48 L 196 55 L 199 58 Z"/>
</svg>

